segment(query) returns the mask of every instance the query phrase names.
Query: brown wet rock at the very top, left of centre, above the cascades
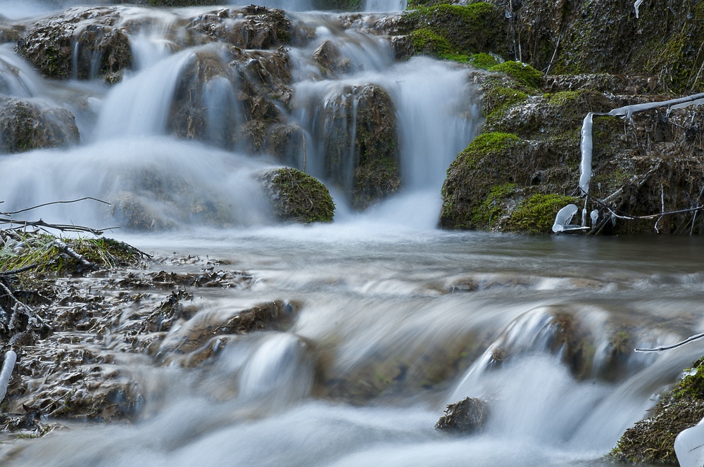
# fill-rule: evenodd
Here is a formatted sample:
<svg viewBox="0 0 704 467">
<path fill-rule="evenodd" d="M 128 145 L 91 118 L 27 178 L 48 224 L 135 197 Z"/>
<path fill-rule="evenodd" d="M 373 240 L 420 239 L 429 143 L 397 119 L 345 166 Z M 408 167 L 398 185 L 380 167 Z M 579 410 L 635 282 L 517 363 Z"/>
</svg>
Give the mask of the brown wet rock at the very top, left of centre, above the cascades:
<svg viewBox="0 0 704 467">
<path fill-rule="evenodd" d="M 288 43 L 291 21 L 277 8 L 250 5 L 200 15 L 188 27 L 240 49 L 272 49 Z"/>
</svg>

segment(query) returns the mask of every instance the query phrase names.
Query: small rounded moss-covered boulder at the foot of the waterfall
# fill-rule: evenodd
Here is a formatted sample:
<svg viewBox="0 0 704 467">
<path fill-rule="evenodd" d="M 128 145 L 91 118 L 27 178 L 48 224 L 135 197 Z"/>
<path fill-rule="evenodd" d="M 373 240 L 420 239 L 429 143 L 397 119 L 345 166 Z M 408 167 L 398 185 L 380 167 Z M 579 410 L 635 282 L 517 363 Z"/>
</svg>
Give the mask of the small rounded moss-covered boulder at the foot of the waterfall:
<svg viewBox="0 0 704 467">
<path fill-rule="evenodd" d="M 297 169 L 284 167 L 260 175 L 275 219 L 310 224 L 332 222 L 335 205 L 327 187 Z"/>
</svg>

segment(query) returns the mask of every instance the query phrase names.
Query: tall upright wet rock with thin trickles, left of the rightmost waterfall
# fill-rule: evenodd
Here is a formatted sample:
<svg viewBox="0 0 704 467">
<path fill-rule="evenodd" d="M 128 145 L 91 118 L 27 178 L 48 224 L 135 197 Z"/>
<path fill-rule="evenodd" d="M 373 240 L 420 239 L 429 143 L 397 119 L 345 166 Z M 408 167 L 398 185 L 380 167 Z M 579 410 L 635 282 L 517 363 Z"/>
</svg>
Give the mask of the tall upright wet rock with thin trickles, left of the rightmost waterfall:
<svg viewBox="0 0 704 467">
<path fill-rule="evenodd" d="M 346 86 L 325 103 L 325 174 L 356 210 L 401 187 L 396 108 L 374 85 Z"/>
</svg>

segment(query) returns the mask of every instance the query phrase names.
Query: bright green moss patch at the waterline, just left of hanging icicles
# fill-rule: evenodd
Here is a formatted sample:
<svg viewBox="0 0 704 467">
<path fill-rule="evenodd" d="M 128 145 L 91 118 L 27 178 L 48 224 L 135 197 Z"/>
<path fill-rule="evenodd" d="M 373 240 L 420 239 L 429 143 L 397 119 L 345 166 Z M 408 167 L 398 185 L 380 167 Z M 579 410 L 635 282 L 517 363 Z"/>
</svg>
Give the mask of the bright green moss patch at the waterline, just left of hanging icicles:
<svg viewBox="0 0 704 467">
<path fill-rule="evenodd" d="M 517 205 L 507 222 L 507 230 L 531 234 L 551 233 L 558 211 L 576 202 L 577 198 L 572 196 L 537 193 Z"/>
</svg>

